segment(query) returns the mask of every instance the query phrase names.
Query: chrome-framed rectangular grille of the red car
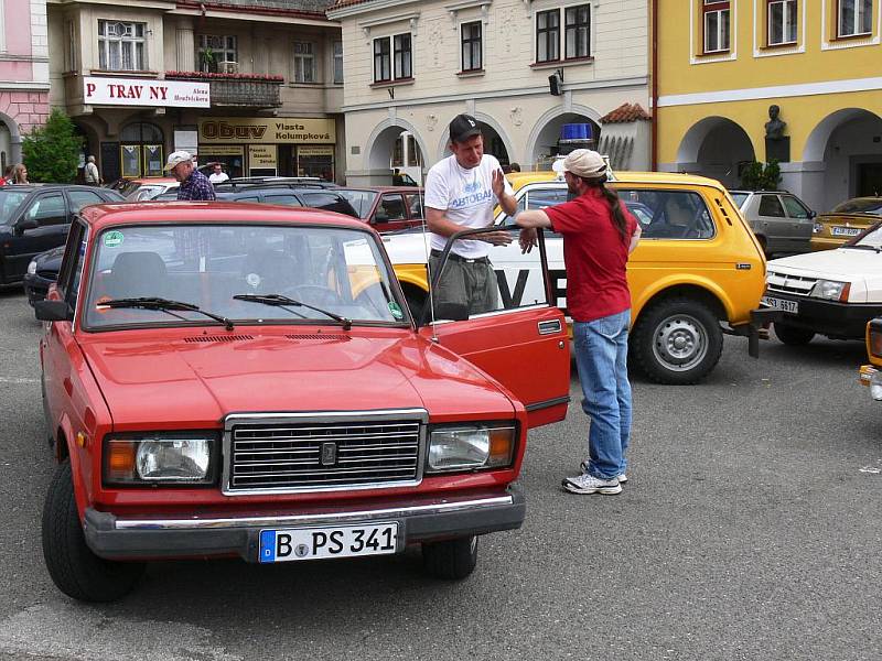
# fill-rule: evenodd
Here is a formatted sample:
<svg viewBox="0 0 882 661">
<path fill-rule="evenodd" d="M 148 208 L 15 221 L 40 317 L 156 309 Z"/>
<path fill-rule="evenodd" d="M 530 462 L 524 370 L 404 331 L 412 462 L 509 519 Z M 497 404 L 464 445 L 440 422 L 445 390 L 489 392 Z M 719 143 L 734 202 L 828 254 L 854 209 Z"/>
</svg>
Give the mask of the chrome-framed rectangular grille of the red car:
<svg viewBox="0 0 882 661">
<path fill-rule="evenodd" d="M 226 425 L 226 491 L 311 491 L 419 484 L 424 412 L 260 419 Z"/>
</svg>

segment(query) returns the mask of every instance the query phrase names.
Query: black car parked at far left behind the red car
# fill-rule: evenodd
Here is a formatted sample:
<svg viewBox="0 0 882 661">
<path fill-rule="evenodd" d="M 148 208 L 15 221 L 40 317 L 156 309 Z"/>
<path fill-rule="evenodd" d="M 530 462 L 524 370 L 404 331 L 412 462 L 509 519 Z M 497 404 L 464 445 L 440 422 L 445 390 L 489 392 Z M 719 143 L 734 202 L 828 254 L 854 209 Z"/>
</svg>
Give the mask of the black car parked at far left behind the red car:
<svg viewBox="0 0 882 661">
<path fill-rule="evenodd" d="M 64 245 L 74 214 L 103 202 L 125 198 L 93 186 L 0 186 L 0 284 L 22 282 L 35 254 Z"/>
</svg>

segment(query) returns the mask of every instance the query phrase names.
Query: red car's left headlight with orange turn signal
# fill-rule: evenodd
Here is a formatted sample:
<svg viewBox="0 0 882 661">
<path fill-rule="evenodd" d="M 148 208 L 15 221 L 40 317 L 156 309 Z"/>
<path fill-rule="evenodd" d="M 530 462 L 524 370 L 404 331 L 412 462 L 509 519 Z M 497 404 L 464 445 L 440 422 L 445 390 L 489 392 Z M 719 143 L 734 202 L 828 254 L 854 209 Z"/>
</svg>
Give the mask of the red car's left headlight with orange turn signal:
<svg viewBox="0 0 882 661">
<path fill-rule="evenodd" d="M 104 443 L 104 481 L 214 484 L 218 447 L 219 434 L 213 432 L 110 435 Z"/>
</svg>

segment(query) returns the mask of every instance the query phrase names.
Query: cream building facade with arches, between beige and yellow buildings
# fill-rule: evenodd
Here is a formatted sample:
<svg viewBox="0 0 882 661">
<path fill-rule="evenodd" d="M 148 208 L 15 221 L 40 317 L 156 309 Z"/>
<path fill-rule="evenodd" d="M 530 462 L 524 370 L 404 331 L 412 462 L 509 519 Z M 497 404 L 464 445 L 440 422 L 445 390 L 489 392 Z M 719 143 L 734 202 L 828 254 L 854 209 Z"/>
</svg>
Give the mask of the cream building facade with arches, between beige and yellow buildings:
<svg viewBox="0 0 882 661">
<path fill-rule="evenodd" d="M 327 15 L 351 184 L 388 184 L 401 151 L 426 172 L 460 112 L 503 164 L 549 167 L 561 141 L 588 139 L 616 167 L 649 165 L 646 0 L 337 0 Z"/>
</svg>

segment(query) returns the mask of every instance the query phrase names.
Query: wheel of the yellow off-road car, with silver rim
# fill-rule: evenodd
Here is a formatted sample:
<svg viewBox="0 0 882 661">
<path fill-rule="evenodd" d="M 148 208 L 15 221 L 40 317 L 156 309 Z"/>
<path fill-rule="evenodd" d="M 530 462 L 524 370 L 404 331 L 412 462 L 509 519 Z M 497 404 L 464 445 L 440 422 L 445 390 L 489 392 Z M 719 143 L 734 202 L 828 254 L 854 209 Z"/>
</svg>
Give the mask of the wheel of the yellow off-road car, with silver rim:
<svg viewBox="0 0 882 661">
<path fill-rule="evenodd" d="M 717 316 L 700 301 L 664 299 L 643 311 L 630 349 L 650 380 L 686 386 L 703 379 L 720 361 L 723 334 Z"/>
</svg>

